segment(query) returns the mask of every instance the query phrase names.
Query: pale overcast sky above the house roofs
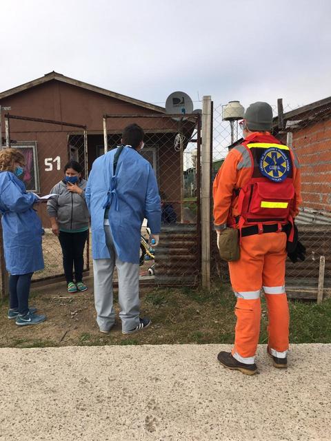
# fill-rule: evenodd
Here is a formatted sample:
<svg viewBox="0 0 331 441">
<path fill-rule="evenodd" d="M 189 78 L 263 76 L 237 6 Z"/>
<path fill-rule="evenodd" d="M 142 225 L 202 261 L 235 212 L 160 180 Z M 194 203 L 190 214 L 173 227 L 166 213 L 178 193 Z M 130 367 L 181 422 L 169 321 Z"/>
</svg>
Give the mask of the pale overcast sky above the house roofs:
<svg viewBox="0 0 331 441">
<path fill-rule="evenodd" d="M 330 0 L 0 0 L 0 90 L 52 70 L 150 103 L 331 95 Z M 199 102 L 194 108 L 201 107 Z"/>
</svg>

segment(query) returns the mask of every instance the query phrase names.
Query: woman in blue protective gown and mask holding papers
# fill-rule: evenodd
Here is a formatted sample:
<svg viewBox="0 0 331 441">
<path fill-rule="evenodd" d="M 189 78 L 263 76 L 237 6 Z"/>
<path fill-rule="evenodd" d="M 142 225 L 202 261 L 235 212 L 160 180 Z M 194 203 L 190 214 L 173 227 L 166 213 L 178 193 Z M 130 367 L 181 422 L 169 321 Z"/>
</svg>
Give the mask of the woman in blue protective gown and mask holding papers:
<svg viewBox="0 0 331 441">
<path fill-rule="evenodd" d="M 46 316 L 37 315 L 28 306 L 32 274 L 43 269 L 41 220 L 33 209 L 39 198 L 27 193 L 19 176 L 25 160 L 19 150 L 7 148 L 0 152 L 0 212 L 6 269 L 10 273 L 10 309 L 8 318 L 19 326 L 37 325 Z"/>
</svg>

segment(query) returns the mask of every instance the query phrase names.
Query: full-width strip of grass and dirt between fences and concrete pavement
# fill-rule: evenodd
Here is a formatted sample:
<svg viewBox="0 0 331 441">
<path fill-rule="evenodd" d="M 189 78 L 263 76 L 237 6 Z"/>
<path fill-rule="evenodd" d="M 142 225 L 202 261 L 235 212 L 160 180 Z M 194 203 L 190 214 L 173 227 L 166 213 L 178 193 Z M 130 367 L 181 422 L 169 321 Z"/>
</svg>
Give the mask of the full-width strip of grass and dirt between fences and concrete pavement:
<svg viewBox="0 0 331 441">
<path fill-rule="evenodd" d="M 66 294 L 66 286 L 63 286 Z M 67 295 L 67 294 L 66 294 Z M 148 316 L 152 325 L 133 338 L 121 334 L 117 322 L 110 334 L 100 334 L 95 322 L 94 298 L 89 293 L 79 296 L 44 295 L 32 291 L 31 305 L 48 316 L 42 326 L 21 329 L 7 320 L 8 300 L 0 302 L 0 347 L 58 347 L 103 345 L 163 344 L 228 344 L 234 341 L 236 298 L 230 285 L 219 283 L 210 291 L 182 288 L 155 288 L 141 296 L 141 316 Z M 314 301 L 290 300 L 290 342 L 331 342 L 331 299 L 321 305 Z M 74 309 L 74 316 L 71 311 Z M 119 314 L 119 305 L 114 302 Z M 268 342 L 268 311 L 261 299 L 260 343 Z M 67 330 L 63 335 L 64 330 Z"/>
</svg>

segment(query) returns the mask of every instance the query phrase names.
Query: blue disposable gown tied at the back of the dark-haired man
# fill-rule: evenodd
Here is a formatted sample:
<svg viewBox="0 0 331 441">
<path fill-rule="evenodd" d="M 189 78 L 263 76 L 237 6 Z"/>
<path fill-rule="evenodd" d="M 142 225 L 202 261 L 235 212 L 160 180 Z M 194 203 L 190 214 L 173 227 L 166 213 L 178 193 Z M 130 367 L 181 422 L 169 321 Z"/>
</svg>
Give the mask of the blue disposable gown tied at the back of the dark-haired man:
<svg viewBox="0 0 331 441">
<path fill-rule="evenodd" d="M 152 234 L 161 229 L 161 201 L 157 180 L 148 161 L 131 147 L 121 152 L 116 173 L 111 150 L 97 158 L 86 187 L 86 203 L 91 215 L 92 255 L 110 258 L 103 228 L 106 205 L 110 203 L 109 223 L 120 260 L 139 263 L 141 224 L 148 219 Z"/>
</svg>

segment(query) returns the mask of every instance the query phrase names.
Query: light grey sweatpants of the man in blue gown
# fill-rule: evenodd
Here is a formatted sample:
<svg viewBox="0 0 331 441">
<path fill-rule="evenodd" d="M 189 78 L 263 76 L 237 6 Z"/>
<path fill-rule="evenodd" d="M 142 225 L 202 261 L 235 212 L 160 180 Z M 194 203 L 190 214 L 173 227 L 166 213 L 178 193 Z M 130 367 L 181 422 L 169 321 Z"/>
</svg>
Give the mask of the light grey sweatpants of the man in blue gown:
<svg viewBox="0 0 331 441">
<path fill-rule="evenodd" d="M 115 322 L 112 276 L 117 267 L 119 278 L 119 317 L 122 331 L 130 331 L 139 325 L 139 264 L 122 262 L 115 251 L 109 225 L 104 225 L 109 259 L 94 259 L 94 304 L 97 323 L 101 331 L 109 331 Z"/>
</svg>

